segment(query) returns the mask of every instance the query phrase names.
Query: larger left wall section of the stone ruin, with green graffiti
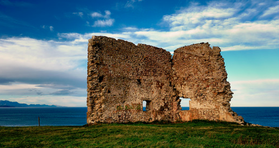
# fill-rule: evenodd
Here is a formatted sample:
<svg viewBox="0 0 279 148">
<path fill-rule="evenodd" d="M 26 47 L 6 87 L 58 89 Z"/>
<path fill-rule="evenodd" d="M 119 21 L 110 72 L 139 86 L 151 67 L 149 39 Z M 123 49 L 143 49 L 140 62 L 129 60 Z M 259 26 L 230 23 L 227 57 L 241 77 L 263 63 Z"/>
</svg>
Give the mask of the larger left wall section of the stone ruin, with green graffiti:
<svg viewBox="0 0 279 148">
<path fill-rule="evenodd" d="M 107 37 L 88 45 L 88 123 L 177 120 L 169 52 Z M 143 101 L 150 111 L 142 111 Z"/>
</svg>

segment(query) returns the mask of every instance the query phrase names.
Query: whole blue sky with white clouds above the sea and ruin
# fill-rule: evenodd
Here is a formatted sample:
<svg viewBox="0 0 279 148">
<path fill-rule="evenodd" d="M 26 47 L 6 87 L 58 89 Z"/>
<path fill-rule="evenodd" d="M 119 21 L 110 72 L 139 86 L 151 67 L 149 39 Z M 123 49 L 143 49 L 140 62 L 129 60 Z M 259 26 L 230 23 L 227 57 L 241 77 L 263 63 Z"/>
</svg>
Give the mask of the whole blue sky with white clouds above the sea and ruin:
<svg viewBox="0 0 279 148">
<path fill-rule="evenodd" d="M 231 106 L 279 106 L 279 1 L 0 0 L 0 100 L 86 106 L 92 35 L 219 46 Z"/>
</svg>

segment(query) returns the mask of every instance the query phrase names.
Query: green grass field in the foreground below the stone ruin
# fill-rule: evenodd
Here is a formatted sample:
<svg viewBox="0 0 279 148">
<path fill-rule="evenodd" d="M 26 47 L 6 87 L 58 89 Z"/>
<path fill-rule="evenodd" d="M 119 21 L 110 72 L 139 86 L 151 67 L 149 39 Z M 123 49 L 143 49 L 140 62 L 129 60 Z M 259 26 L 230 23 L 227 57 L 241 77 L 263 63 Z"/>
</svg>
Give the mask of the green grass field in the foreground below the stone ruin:
<svg viewBox="0 0 279 148">
<path fill-rule="evenodd" d="M 1 148 L 279 148 L 279 128 L 227 122 L 0 127 Z"/>
</svg>

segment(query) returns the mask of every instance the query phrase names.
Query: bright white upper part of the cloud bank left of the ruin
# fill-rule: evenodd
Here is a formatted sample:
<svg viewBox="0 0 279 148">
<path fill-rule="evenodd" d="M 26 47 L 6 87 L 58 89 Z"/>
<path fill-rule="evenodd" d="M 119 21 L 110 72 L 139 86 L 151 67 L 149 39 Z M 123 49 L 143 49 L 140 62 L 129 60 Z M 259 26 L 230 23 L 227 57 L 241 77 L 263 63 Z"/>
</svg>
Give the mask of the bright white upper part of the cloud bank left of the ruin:
<svg viewBox="0 0 279 148">
<path fill-rule="evenodd" d="M 0 57 L 5 61 L 0 66 L 3 67 L 13 64 L 42 70 L 66 70 L 76 66 L 70 63 L 78 57 L 84 56 L 86 59 L 86 45 L 73 42 L 7 38 L 0 39 L 0 43 Z"/>
</svg>

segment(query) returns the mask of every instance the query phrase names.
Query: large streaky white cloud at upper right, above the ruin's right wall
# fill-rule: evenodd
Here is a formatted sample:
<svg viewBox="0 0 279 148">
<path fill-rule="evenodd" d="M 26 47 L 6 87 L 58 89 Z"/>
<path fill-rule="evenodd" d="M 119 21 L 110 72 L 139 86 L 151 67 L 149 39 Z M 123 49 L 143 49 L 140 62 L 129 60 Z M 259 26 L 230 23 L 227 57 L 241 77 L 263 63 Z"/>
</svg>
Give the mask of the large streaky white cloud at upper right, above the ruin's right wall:
<svg viewBox="0 0 279 148">
<path fill-rule="evenodd" d="M 258 7 L 260 6 L 257 4 L 244 6 L 243 3 L 225 1 L 210 2 L 207 6 L 194 3 L 175 14 L 163 17 L 163 23 L 170 27 L 169 31 L 155 29 L 129 31 L 142 41 L 145 40 L 145 43 L 154 43 L 154 46 L 159 45 L 170 51 L 175 50 L 177 45 L 200 42 L 220 46 L 222 51 L 277 49 L 278 18 L 253 22 L 246 20 L 260 13 L 256 11 Z"/>
</svg>

